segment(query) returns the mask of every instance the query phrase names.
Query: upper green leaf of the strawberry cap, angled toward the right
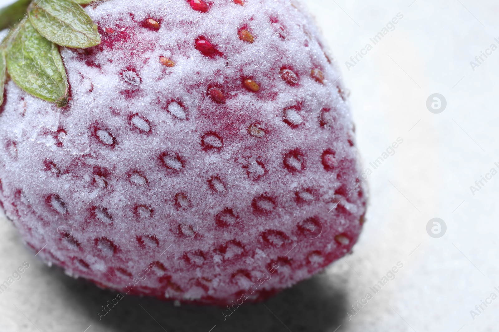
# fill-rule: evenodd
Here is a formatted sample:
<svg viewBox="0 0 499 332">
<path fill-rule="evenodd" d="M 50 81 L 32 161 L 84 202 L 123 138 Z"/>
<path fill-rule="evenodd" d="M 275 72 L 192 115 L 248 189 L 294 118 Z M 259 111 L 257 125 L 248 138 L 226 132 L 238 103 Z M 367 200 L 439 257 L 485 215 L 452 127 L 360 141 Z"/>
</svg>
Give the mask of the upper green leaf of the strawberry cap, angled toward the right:
<svg viewBox="0 0 499 332">
<path fill-rule="evenodd" d="M 28 7 L 33 26 L 48 40 L 66 47 L 86 48 L 100 44 L 97 25 L 71 0 L 37 0 Z"/>
</svg>

